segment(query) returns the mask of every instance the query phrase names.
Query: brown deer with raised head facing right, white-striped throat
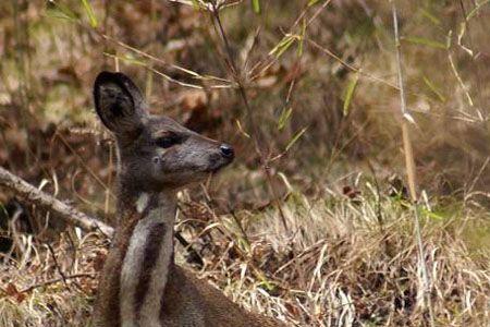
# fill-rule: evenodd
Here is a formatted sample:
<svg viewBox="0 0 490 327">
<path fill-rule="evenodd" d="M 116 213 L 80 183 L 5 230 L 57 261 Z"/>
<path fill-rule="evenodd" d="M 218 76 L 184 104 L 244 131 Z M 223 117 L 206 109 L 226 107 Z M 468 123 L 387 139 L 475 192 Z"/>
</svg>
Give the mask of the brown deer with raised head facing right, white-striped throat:
<svg viewBox="0 0 490 327">
<path fill-rule="evenodd" d="M 228 144 L 152 116 L 126 75 L 101 72 L 96 112 L 117 145 L 117 229 L 95 302 L 97 327 L 272 327 L 174 263 L 176 193 L 234 159 Z"/>
</svg>

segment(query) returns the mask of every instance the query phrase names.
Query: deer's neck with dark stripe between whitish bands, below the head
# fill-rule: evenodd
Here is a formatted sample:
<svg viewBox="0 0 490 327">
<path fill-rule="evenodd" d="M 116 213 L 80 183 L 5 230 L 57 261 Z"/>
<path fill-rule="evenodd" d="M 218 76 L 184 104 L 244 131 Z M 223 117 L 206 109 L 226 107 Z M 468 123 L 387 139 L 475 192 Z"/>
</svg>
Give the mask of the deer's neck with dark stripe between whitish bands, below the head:
<svg viewBox="0 0 490 327">
<path fill-rule="evenodd" d="M 121 185 L 122 190 L 131 190 Z M 173 265 L 174 192 L 126 192 L 119 196 L 122 247 L 121 320 L 146 326 L 158 319 Z M 136 322 L 138 322 L 136 324 Z"/>
</svg>

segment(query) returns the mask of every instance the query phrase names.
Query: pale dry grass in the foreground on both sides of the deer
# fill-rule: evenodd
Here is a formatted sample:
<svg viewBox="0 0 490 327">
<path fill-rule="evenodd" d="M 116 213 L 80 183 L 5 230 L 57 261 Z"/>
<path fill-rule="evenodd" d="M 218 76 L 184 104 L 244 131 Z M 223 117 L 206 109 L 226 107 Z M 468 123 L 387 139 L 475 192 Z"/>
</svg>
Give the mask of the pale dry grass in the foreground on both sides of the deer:
<svg viewBox="0 0 490 327">
<path fill-rule="evenodd" d="M 177 228 L 205 259 L 196 274 L 247 308 L 296 326 L 428 325 L 413 214 L 395 197 L 378 203 L 368 182 L 362 190 L 355 198 L 332 192 L 315 202 L 291 193 L 283 206 L 289 232 L 273 208 L 220 216 L 188 199 Z M 490 249 L 468 234 L 490 228 L 488 213 L 419 209 L 436 326 L 488 325 Z M 103 240 L 63 234 L 56 262 L 47 246 L 20 242 L 17 259 L 2 266 L 2 326 L 86 326 Z M 185 253 L 177 258 L 188 266 Z"/>
</svg>

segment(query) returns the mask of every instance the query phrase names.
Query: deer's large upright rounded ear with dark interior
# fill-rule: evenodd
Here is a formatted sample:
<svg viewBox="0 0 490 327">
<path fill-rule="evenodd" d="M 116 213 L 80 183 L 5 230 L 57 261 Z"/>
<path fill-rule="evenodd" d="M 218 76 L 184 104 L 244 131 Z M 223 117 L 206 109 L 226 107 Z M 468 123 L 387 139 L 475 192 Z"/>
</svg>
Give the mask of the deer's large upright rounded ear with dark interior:
<svg viewBox="0 0 490 327">
<path fill-rule="evenodd" d="M 142 93 L 130 77 L 122 73 L 101 72 L 94 83 L 97 114 L 113 133 L 135 134 L 147 116 Z"/>
</svg>

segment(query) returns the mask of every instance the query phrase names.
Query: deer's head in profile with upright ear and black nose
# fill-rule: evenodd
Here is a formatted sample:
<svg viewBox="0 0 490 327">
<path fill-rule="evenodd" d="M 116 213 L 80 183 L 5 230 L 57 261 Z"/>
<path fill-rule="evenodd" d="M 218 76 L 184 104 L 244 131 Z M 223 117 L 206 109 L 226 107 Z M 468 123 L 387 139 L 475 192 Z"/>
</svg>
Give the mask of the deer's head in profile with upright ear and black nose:
<svg viewBox="0 0 490 327">
<path fill-rule="evenodd" d="M 234 158 L 230 145 L 199 135 L 174 120 L 151 116 L 145 99 L 122 73 L 101 72 L 95 106 L 118 144 L 118 174 L 124 187 L 176 190 L 203 181 Z"/>
</svg>

